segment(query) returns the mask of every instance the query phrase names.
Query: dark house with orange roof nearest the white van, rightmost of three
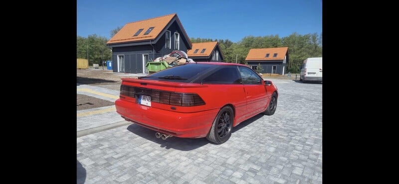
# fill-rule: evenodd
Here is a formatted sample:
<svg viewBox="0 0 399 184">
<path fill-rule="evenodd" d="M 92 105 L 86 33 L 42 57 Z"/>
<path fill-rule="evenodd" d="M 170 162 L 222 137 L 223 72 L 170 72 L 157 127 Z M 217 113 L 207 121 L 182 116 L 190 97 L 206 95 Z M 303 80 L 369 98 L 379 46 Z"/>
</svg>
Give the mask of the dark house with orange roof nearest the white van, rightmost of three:
<svg viewBox="0 0 399 184">
<path fill-rule="evenodd" d="M 288 66 L 288 47 L 252 48 L 245 58 L 247 64 L 256 71 L 260 63 L 262 73 L 277 73 L 284 75 Z"/>
</svg>

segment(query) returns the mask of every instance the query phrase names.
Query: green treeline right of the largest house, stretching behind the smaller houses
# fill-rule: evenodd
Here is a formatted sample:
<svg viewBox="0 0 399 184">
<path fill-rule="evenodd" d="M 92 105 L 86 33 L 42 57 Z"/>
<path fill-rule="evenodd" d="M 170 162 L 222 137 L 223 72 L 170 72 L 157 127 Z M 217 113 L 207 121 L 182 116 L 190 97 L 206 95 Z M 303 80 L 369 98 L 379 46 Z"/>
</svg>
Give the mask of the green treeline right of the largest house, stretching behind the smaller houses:
<svg viewBox="0 0 399 184">
<path fill-rule="evenodd" d="M 245 36 L 237 43 L 228 39 L 190 38 L 192 43 L 218 41 L 224 62 L 246 64 L 245 58 L 251 48 L 288 47 L 288 71 L 298 73 L 303 60 L 308 57 L 322 57 L 322 34 L 300 35 L 296 32 L 280 38 L 278 35 Z"/>
</svg>

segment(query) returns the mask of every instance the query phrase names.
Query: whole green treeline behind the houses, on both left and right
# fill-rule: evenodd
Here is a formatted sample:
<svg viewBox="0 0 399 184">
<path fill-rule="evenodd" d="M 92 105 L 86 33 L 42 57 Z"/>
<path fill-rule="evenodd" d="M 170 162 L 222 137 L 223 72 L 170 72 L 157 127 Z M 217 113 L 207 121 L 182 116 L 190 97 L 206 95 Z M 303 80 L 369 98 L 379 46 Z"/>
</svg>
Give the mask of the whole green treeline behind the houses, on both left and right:
<svg viewBox="0 0 399 184">
<path fill-rule="evenodd" d="M 119 27 L 118 27 L 119 28 Z M 115 29 L 114 34 L 120 29 Z M 112 37 L 111 31 L 111 37 Z M 278 35 L 269 36 L 245 36 L 234 43 L 229 39 L 217 40 L 209 38 L 190 38 L 192 43 L 218 41 L 223 52 L 224 62 L 237 62 L 246 64 L 245 58 L 251 48 L 288 47 L 289 62 L 288 71 L 298 73 L 303 60 L 308 57 L 322 57 L 322 34 L 317 33 L 301 35 L 296 32 L 280 38 Z M 87 38 L 76 37 L 77 58 L 89 57 L 89 65 L 100 64 L 101 61 L 111 60 L 111 49 L 106 46 L 108 39 L 96 34 Z"/>
</svg>

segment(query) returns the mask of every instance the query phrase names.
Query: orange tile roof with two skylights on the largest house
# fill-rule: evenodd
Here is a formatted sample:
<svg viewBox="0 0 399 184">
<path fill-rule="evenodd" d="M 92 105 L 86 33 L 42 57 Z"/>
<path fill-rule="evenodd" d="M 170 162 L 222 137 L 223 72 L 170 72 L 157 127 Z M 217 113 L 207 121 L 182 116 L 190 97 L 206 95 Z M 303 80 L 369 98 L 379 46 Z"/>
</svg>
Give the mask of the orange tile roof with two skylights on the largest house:
<svg viewBox="0 0 399 184">
<path fill-rule="evenodd" d="M 173 13 L 127 23 L 107 42 L 107 44 L 155 39 L 164 30 L 165 26 L 168 25 L 174 16 L 177 17 L 177 14 Z M 178 17 L 177 20 L 180 22 Z M 154 29 L 149 34 L 145 35 L 144 33 L 150 27 L 154 27 Z M 133 36 L 139 29 L 143 30 L 137 36 Z M 183 27 L 182 29 L 186 33 Z"/>
</svg>

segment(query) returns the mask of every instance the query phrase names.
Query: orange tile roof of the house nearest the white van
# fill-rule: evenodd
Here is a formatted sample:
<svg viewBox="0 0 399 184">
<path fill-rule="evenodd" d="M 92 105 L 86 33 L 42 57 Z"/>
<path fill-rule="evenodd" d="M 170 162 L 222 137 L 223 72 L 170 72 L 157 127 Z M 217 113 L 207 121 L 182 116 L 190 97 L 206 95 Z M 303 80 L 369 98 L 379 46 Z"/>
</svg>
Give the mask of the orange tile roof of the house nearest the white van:
<svg viewBox="0 0 399 184">
<path fill-rule="evenodd" d="M 251 60 L 284 60 L 284 56 L 288 51 L 288 47 L 277 47 L 277 48 L 252 48 L 249 50 L 246 56 L 246 61 Z M 265 57 L 269 53 L 269 57 Z M 277 53 L 277 57 L 273 57 L 273 54 Z"/>
</svg>

